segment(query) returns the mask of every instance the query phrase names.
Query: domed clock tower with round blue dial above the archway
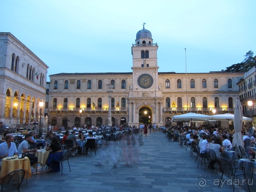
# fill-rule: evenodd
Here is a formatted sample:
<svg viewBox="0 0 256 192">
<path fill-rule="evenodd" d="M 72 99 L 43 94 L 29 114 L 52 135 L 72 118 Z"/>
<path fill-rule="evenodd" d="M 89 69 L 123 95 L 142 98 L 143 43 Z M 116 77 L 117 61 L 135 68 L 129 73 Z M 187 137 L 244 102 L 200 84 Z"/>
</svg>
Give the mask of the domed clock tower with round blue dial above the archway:
<svg viewBox="0 0 256 192">
<path fill-rule="evenodd" d="M 146 24 L 146 23 L 144 23 Z M 158 83 L 157 43 L 145 29 L 136 34 L 132 44 L 132 84 L 129 92 L 129 124 L 139 125 L 139 117 L 150 111 L 152 123 L 162 122 L 162 85 Z"/>
</svg>

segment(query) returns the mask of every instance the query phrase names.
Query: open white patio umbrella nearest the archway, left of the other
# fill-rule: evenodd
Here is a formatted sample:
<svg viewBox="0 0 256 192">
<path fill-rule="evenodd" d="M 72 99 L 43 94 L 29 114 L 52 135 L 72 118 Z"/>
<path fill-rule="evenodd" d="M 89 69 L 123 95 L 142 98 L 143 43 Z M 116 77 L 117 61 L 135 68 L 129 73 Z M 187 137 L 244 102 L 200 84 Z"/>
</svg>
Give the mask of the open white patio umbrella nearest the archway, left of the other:
<svg viewBox="0 0 256 192">
<path fill-rule="evenodd" d="M 203 115 L 203 114 L 197 114 L 197 113 L 187 113 L 182 115 L 175 115 L 172 116 L 172 121 L 198 121 L 198 122 L 205 122 L 212 119 L 211 116 Z"/>
</svg>

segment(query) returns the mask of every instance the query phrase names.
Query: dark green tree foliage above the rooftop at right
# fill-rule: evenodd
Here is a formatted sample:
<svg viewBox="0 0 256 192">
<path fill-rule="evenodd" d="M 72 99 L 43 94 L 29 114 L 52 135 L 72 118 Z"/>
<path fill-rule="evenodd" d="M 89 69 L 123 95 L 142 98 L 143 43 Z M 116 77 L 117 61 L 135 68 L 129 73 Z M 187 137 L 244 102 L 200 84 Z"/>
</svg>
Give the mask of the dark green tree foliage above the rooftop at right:
<svg viewBox="0 0 256 192">
<path fill-rule="evenodd" d="M 246 72 L 256 65 L 256 61 L 253 59 L 253 52 L 250 50 L 244 56 L 245 59 L 241 63 L 233 64 L 230 67 L 226 67 L 226 72 Z"/>
</svg>

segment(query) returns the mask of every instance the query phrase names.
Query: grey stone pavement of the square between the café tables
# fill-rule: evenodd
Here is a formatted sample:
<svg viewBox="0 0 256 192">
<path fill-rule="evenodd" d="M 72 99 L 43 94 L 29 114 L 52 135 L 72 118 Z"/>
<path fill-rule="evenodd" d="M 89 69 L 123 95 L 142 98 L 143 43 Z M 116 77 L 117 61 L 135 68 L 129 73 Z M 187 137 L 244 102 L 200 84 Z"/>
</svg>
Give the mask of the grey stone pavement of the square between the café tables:
<svg viewBox="0 0 256 192">
<path fill-rule="evenodd" d="M 102 166 L 94 166 L 101 156 L 101 149 L 97 150 L 96 156 L 88 154 L 69 159 L 71 172 L 67 162 L 64 162 L 63 175 L 58 173 L 35 174 L 33 169 L 32 177 L 26 184 L 22 183 L 21 191 L 34 192 L 43 191 L 86 191 L 86 192 L 194 192 L 194 191 L 233 191 L 232 186 L 227 182 L 218 188 L 215 179 L 221 175 L 216 170 L 206 168 L 205 164 L 195 163 L 195 155 L 190 156 L 189 148 L 180 148 L 178 142 L 168 141 L 165 134 L 158 131 L 143 135 L 144 145 L 139 147 L 139 164 L 130 166 L 124 165 L 124 161 L 118 162 L 113 167 L 110 157 L 105 158 Z M 120 142 L 116 142 L 114 151 L 116 156 L 121 154 Z M 104 152 L 108 152 L 104 149 Z M 137 156 L 136 156 L 137 157 Z M 40 170 L 40 168 L 39 168 Z M 251 172 L 249 173 L 251 175 Z M 226 178 L 227 179 L 227 178 Z M 239 179 L 239 178 L 238 178 Z M 256 180 L 256 176 L 253 175 Z M 216 180 L 215 180 L 216 181 Z M 242 184 L 242 178 L 239 179 Z M 252 184 L 250 181 L 249 184 Z M 250 186 L 255 191 L 256 182 Z M 242 187 L 242 188 L 241 188 Z M 235 186 L 235 191 L 248 191 L 247 185 Z"/>
</svg>

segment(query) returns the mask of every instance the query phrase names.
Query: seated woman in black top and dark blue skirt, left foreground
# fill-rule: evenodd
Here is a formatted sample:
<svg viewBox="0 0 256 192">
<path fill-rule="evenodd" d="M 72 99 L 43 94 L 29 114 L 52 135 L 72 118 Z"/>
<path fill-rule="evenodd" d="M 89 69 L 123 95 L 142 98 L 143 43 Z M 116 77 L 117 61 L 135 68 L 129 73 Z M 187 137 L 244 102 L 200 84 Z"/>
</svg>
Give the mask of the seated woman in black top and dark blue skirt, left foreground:
<svg viewBox="0 0 256 192">
<path fill-rule="evenodd" d="M 60 162 L 58 161 L 61 161 L 62 159 L 62 150 L 58 138 L 53 137 L 50 147 L 46 148 L 45 150 L 52 150 L 52 153 L 49 154 L 47 159 L 47 166 L 49 167 L 47 172 L 59 172 Z"/>
</svg>

